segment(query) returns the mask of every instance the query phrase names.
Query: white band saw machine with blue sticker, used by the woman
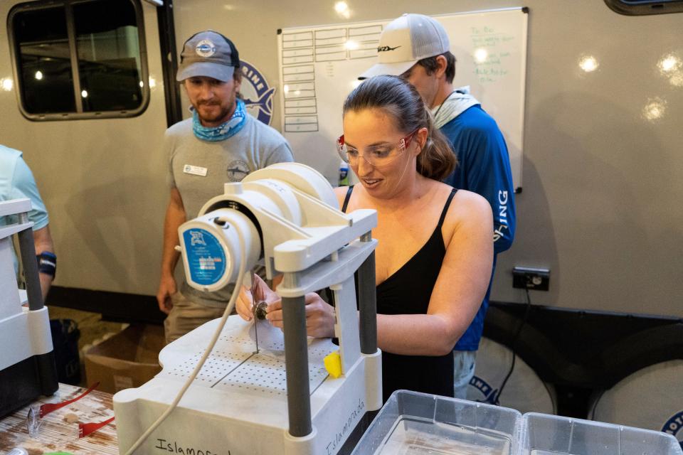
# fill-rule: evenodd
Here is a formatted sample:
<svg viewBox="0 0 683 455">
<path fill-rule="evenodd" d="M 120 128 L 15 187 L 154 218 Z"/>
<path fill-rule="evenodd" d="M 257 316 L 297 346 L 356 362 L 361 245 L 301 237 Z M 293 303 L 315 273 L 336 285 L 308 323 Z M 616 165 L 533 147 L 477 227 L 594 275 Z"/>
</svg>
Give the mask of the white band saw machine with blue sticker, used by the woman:
<svg viewBox="0 0 683 455">
<path fill-rule="evenodd" d="M 196 289 L 237 283 L 240 267 L 249 271 L 262 259 L 269 279 L 284 275 L 276 291 L 285 330 L 230 316 L 176 409 L 134 454 L 332 455 L 365 412 L 381 407 L 371 237 L 377 215 L 345 214 L 337 206 L 320 173 L 282 163 L 226 183 L 223 195 L 181 225 L 186 278 Z M 333 294 L 339 346 L 306 335 L 304 296 L 326 287 Z M 114 396 L 122 454 L 174 401 L 220 321 L 170 343 L 159 353 L 159 375 Z M 324 358 L 335 350 L 339 378 L 324 368 Z"/>
</svg>

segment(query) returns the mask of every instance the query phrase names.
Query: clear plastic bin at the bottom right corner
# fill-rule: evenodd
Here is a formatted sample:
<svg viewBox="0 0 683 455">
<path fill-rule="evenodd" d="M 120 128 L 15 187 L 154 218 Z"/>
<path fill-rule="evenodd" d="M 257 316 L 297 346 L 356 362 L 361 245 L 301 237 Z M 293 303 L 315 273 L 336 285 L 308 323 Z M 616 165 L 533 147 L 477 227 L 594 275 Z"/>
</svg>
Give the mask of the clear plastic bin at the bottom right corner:
<svg viewBox="0 0 683 455">
<path fill-rule="evenodd" d="M 683 455 L 671 434 L 548 414 L 524 414 L 524 455 Z"/>
</svg>

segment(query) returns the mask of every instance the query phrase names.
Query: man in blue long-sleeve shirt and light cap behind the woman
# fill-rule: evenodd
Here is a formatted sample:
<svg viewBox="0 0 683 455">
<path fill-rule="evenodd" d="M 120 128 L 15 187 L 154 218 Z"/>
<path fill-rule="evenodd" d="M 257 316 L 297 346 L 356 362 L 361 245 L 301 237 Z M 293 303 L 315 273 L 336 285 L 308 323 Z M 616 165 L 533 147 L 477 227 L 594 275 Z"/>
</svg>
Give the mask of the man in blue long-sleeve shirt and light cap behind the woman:
<svg viewBox="0 0 683 455">
<path fill-rule="evenodd" d="M 448 34 L 438 21 L 422 14 L 404 14 L 384 28 L 378 63 L 361 75 L 401 75 L 420 92 L 436 126 L 451 142 L 458 166 L 445 179 L 455 188 L 474 191 L 491 204 L 494 258 L 512 245 L 515 228 L 514 188 L 507 145 L 495 120 L 469 87 L 455 89 L 455 56 Z M 455 397 L 465 398 L 475 373 L 475 358 L 489 306 L 491 284 L 475 319 L 455 345 Z"/>
</svg>

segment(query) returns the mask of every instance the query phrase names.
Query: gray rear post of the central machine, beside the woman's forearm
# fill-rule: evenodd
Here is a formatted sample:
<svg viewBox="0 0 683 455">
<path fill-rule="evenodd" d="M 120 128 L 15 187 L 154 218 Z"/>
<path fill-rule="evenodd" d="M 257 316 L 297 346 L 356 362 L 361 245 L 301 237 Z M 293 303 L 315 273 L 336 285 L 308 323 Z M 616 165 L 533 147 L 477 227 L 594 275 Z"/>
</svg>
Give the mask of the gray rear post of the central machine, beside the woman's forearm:
<svg viewBox="0 0 683 455">
<path fill-rule="evenodd" d="M 361 236 L 361 242 L 372 239 L 370 232 Z M 375 287 L 375 252 L 358 268 L 359 331 L 361 353 L 377 352 L 377 291 Z"/>
</svg>

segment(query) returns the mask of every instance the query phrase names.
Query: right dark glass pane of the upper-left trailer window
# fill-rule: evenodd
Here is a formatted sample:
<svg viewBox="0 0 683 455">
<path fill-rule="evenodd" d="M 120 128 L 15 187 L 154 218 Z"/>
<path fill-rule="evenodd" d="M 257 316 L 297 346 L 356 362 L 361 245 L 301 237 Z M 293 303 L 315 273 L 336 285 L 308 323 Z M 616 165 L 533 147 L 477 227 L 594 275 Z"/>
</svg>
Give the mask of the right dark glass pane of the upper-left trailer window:
<svg viewBox="0 0 683 455">
<path fill-rule="evenodd" d="M 73 5 L 83 112 L 129 110 L 142 102 L 142 66 L 132 3 Z"/>
</svg>

